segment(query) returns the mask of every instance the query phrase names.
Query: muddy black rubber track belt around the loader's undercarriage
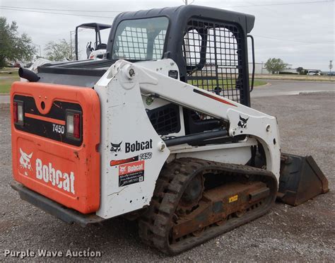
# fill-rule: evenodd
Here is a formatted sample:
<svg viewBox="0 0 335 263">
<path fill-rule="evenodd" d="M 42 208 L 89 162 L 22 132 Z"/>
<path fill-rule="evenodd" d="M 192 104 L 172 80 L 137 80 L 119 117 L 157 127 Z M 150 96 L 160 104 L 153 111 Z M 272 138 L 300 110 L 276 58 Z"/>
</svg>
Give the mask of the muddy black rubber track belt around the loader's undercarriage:
<svg viewBox="0 0 335 263">
<path fill-rule="evenodd" d="M 262 181 L 266 182 L 270 188 L 271 195 L 261 205 L 261 209 L 254 209 L 241 218 L 228 220 L 222 226 L 208 228 L 199 236 L 170 244 L 169 235 L 173 226 L 172 216 L 175 214 L 175 209 L 188 182 L 199 173 L 257 175 Z M 165 254 L 176 255 L 264 215 L 274 204 L 276 192 L 276 177 L 267 170 L 246 165 L 216 163 L 196 158 L 173 160 L 171 163 L 164 165 L 156 182 L 151 205 L 148 211 L 139 218 L 139 236 L 147 245 L 156 247 Z"/>
</svg>

